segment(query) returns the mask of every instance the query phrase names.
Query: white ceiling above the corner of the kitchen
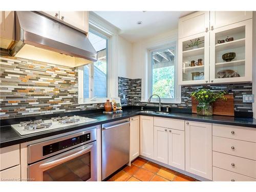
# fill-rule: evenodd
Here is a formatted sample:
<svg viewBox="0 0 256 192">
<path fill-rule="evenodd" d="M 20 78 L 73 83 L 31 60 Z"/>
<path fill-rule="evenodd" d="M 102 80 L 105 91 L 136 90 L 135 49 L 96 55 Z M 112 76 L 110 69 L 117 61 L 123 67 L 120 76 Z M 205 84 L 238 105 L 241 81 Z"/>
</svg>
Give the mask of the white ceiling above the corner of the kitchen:
<svg viewBox="0 0 256 192">
<path fill-rule="evenodd" d="M 120 29 L 120 35 L 135 42 L 178 28 L 178 19 L 193 11 L 94 11 Z M 142 21 L 141 25 L 137 22 Z"/>
</svg>

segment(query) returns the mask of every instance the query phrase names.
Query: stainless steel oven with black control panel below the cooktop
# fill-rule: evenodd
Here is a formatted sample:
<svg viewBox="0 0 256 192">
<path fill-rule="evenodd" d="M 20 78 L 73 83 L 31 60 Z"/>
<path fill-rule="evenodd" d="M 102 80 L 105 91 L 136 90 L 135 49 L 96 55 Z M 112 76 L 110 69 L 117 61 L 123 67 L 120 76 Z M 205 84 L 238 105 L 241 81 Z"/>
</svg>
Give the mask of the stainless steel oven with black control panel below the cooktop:
<svg viewBox="0 0 256 192">
<path fill-rule="evenodd" d="M 28 145 L 28 180 L 97 181 L 96 128 Z"/>
</svg>

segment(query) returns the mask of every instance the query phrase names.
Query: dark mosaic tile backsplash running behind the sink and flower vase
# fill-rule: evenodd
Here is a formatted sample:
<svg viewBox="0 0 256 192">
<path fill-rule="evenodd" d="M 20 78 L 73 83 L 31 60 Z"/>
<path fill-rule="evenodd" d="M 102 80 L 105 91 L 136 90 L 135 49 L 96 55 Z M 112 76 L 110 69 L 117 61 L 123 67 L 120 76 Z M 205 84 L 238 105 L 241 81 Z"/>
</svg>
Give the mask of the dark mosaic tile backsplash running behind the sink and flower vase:
<svg viewBox="0 0 256 192">
<path fill-rule="evenodd" d="M 135 81 L 134 81 L 135 80 Z M 158 106 L 158 103 L 140 102 L 141 99 L 141 79 L 127 79 L 119 77 L 119 97 L 125 95 L 125 99 L 121 99 L 123 104 L 137 106 Z M 136 83 L 139 82 L 139 83 Z M 136 99 L 129 97 L 129 93 L 133 92 L 132 88 L 136 89 Z M 190 94 L 200 89 L 210 89 L 212 91 L 226 91 L 228 94 L 233 94 L 234 111 L 236 112 L 252 112 L 252 103 L 243 102 L 243 94 L 252 94 L 252 83 L 236 83 L 236 84 L 211 84 L 203 86 L 182 86 L 181 87 L 181 103 L 162 103 L 162 106 L 170 106 L 171 108 L 191 109 Z M 132 95 L 133 96 L 133 95 Z"/>
</svg>

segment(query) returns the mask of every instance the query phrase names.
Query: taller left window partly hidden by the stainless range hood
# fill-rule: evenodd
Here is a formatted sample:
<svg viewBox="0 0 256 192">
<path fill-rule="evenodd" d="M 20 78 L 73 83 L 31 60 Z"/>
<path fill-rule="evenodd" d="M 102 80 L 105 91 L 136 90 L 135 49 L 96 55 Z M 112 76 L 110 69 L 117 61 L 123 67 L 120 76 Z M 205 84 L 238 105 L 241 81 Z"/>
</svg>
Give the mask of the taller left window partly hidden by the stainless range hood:
<svg viewBox="0 0 256 192">
<path fill-rule="evenodd" d="M 83 102 L 105 100 L 108 97 L 108 38 L 93 31 L 89 32 L 88 38 L 97 51 L 98 60 L 80 69 Z"/>
</svg>

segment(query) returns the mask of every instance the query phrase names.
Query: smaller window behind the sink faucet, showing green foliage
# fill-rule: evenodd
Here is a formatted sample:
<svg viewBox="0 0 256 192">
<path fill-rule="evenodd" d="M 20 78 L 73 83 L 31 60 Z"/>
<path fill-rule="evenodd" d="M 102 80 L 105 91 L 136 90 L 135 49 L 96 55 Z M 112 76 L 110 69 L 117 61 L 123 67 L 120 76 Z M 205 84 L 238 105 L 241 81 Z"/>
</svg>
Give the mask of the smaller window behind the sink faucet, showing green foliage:
<svg viewBox="0 0 256 192">
<path fill-rule="evenodd" d="M 151 82 L 148 83 L 148 96 L 157 94 L 161 97 L 162 102 L 179 102 L 176 46 L 165 46 L 151 50 L 149 53 L 148 79 Z M 157 97 L 152 101 L 157 101 Z"/>
</svg>

